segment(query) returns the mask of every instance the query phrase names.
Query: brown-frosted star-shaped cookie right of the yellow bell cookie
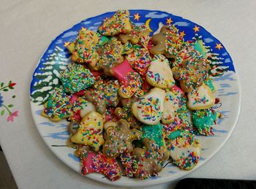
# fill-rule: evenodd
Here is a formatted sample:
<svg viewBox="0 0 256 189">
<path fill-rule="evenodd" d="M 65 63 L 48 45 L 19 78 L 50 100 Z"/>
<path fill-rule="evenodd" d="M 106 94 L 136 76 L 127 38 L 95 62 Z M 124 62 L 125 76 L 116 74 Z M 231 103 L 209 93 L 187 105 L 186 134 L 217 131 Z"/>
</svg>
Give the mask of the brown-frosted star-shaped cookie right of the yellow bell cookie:
<svg viewBox="0 0 256 189">
<path fill-rule="evenodd" d="M 140 139 L 140 131 L 130 129 L 126 120 L 118 120 L 117 126 L 106 129 L 106 139 L 102 152 L 111 158 L 116 158 L 121 153 L 132 153 L 132 141 Z"/>
</svg>

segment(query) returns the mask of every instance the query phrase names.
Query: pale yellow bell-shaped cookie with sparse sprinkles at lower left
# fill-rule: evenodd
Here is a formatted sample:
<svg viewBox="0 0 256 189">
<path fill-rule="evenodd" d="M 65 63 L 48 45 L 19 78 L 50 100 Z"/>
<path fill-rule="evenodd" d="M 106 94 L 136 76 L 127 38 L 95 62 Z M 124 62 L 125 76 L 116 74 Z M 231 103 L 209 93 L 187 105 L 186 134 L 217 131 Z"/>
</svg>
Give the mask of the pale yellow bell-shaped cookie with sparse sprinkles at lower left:
<svg viewBox="0 0 256 189">
<path fill-rule="evenodd" d="M 99 147 L 104 144 L 102 135 L 103 119 L 98 112 L 89 112 L 80 122 L 80 128 L 71 136 L 71 142 L 91 146 L 94 151 L 99 151 Z"/>
</svg>

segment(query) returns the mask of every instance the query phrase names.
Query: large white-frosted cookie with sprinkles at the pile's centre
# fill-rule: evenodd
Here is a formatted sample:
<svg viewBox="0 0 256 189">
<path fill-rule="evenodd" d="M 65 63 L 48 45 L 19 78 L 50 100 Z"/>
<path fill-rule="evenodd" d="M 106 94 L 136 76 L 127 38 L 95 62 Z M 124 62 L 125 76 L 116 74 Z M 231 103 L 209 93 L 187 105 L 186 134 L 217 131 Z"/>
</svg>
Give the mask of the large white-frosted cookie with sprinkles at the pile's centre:
<svg viewBox="0 0 256 189">
<path fill-rule="evenodd" d="M 164 111 L 165 90 L 152 88 L 148 94 L 132 104 L 132 113 L 140 122 L 156 125 Z"/>
</svg>

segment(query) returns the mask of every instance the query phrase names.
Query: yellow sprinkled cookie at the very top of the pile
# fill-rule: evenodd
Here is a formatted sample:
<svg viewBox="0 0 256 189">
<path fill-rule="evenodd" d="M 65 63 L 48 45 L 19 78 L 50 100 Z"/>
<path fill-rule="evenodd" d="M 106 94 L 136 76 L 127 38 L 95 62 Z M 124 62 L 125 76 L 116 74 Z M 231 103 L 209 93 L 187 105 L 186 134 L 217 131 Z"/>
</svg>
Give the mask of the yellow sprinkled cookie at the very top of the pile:
<svg viewBox="0 0 256 189">
<path fill-rule="evenodd" d="M 105 36 L 127 34 L 132 31 L 129 21 L 129 10 L 118 10 L 111 18 L 105 18 L 98 31 Z"/>
</svg>

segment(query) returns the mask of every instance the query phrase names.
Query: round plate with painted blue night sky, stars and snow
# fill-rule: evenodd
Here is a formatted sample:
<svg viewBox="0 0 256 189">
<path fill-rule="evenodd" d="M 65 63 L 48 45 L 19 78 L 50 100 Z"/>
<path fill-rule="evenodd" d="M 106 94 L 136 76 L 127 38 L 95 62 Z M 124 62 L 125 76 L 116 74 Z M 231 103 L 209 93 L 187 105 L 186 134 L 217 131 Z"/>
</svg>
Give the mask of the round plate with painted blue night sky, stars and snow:
<svg viewBox="0 0 256 189">
<path fill-rule="evenodd" d="M 196 23 L 158 10 L 132 9 L 129 12 L 130 19 L 135 25 L 145 24 L 151 31 L 151 35 L 158 32 L 162 25 L 171 23 L 178 28 L 185 41 L 200 39 L 208 54 L 211 54 L 211 77 L 217 85 L 217 96 L 222 102 L 214 108 L 221 112 L 223 117 L 217 121 L 217 126 L 214 127 L 214 136 L 196 136 L 202 144 L 202 153 L 199 163 L 192 169 L 192 171 L 195 171 L 220 150 L 236 125 L 240 109 L 240 90 L 233 61 L 222 43 Z M 59 123 L 53 123 L 40 116 L 40 112 L 43 109 L 42 104 L 48 99 L 49 92 L 60 85 L 59 72 L 71 62 L 70 54 L 65 49 L 64 42 L 72 42 L 82 27 L 97 31 L 102 20 L 113 14 L 114 12 L 106 12 L 94 18 L 83 20 L 53 39 L 42 58 L 40 58 L 31 81 L 31 112 L 39 134 L 50 150 L 78 173 L 80 173 L 80 161 L 73 155 L 74 149 L 66 146 L 66 140 L 69 137 L 67 121 L 62 120 Z M 172 163 L 165 163 L 164 169 L 158 176 L 151 177 L 148 180 L 121 177 L 121 180 L 110 182 L 102 174 L 89 174 L 86 177 L 110 185 L 146 186 L 177 180 L 192 171 L 182 171 Z"/>
</svg>

